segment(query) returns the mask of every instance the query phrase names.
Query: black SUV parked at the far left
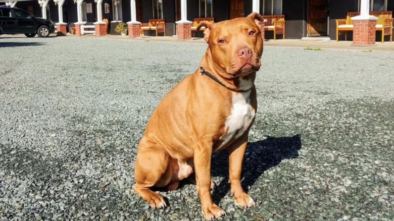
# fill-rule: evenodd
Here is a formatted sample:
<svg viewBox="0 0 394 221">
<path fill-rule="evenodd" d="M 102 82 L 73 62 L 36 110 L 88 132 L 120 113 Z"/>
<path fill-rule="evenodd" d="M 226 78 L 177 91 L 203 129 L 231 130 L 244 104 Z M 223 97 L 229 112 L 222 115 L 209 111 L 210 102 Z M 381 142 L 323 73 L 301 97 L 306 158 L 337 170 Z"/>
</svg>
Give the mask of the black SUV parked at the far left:
<svg viewBox="0 0 394 221">
<path fill-rule="evenodd" d="M 0 6 L 0 35 L 25 34 L 27 37 L 47 37 L 55 32 L 55 25 L 49 19 L 37 18 L 22 9 Z"/>
</svg>

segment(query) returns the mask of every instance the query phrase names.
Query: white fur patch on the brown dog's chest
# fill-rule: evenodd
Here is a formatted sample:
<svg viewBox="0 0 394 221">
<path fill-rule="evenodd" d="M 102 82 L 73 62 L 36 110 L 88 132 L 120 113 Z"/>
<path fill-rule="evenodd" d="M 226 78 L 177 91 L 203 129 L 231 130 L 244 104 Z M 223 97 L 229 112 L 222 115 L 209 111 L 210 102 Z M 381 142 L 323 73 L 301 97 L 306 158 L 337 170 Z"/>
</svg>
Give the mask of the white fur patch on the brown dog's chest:
<svg viewBox="0 0 394 221">
<path fill-rule="evenodd" d="M 223 141 L 219 148 L 224 147 L 233 139 L 239 138 L 251 125 L 256 111 L 250 103 L 251 91 L 235 93 L 232 95 L 232 108 L 225 123 L 227 133 L 221 138 Z"/>
</svg>

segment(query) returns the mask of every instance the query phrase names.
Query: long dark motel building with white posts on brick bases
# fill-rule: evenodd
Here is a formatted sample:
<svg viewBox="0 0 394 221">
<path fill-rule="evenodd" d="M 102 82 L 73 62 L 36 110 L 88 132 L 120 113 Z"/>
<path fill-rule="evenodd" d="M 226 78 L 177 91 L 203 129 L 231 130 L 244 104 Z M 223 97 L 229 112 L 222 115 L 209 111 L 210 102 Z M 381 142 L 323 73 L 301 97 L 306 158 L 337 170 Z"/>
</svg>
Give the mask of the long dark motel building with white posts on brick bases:
<svg viewBox="0 0 394 221">
<path fill-rule="evenodd" d="M 164 19 L 158 36 L 188 39 L 203 36 L 202 31 L 191 31 L 199 18 L 220 22 L 258 12 L 268 18 L 261 23 L 266 39 L 274 39 L 275 19 L 271 19 L 281 17 L 283 27 L 277 28 L 276 39 L 336 40 L 338 35 L 337 40 L 353 44 L 391 41 L 394 11 L 394 0 L 0 0 L 0 5 L 51 19 L 58 34 L 116 35 L 120 34 L 115 32 L 116 25 L 125 22 L 128 36 L 139 37 L 145 23 Z M 143 35 L 156 36 L 149 29 Z"/>
</svg>

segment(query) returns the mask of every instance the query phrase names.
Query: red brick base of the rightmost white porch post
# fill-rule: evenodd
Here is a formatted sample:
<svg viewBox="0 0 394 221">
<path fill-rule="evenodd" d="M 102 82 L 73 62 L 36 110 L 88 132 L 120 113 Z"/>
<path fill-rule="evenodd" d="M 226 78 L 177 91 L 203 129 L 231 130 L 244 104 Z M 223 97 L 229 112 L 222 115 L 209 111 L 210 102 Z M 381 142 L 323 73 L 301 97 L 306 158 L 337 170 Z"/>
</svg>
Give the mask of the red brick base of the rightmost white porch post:
<svg viewBox="0 0 394 221">
<path fill-rule="evenodd" d="M 353 20 L 353 44 L 375 44 L 376 20 Z"/>
</svg>

